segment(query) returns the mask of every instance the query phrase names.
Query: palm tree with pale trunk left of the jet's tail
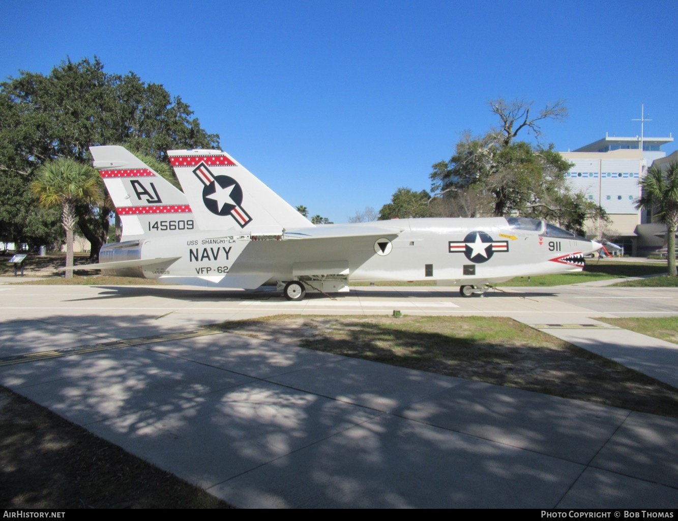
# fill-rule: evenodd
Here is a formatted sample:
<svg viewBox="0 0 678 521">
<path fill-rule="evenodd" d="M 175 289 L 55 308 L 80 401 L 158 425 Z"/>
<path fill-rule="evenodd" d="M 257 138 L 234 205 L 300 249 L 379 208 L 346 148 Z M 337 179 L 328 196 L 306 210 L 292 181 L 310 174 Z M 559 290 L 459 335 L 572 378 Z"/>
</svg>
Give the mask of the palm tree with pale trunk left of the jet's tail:
<svg viewBox="0 0 678 521">
<path fill-rule="evenodd" d="M 96 171 L 73 159 L 55 159 L 38 168 L 31 182 L 31 191 L 39 197 L 41 206 L 61 206 L 61 224 L 66 231 L 66 267 L 73 266 L 73 229 L 77 222 L 75 205 L 101 198 Z M 66 278 L 73 271 L 66 270 Z"/>
</svg>

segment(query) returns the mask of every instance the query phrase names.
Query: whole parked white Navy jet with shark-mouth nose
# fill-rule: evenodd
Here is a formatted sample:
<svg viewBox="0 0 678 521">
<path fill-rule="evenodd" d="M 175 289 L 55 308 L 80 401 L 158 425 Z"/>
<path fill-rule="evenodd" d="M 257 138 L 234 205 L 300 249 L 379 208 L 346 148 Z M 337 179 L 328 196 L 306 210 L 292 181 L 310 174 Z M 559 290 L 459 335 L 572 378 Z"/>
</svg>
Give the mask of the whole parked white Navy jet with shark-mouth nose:
<svg viewBox="0 0 678 521">
<path fill-rule="evenodd" d="M 123 147 L 90 150 L 123 237 L 89 268 L 113 275 L 220 288 L 276 284 L 290 301 L 385 280 L 433 279 L 471 296 L 513 277 L 581 271 L 584 254 L 600 248 L 523 217 L 315 226 L 222 151 L 167 152 L 182 193 Z"/>
</svg>

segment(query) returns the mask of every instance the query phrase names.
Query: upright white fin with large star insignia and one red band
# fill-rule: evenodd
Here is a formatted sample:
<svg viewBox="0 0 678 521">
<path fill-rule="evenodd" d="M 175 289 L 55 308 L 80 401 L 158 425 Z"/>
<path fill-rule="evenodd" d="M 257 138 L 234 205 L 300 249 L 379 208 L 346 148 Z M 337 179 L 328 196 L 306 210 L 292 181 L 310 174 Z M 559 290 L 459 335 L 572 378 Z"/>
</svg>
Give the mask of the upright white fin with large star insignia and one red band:
<svg viewBox="0 0 678 521">
<path fill-rule="evenodd" d="M 233 157 L 218 150 L 170 150 L 169 162 L 204 230 L 279 234 L 313 224 Z"/>
</svg>

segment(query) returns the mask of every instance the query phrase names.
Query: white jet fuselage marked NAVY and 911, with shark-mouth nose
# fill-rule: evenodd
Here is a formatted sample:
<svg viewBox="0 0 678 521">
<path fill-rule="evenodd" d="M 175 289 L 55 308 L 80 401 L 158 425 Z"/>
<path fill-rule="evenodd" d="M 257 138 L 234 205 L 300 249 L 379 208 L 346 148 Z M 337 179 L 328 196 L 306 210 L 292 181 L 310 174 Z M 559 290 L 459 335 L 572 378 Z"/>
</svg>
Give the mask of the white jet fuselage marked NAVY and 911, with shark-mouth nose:
<svg viewBox="0 0 678 521">
<path fill-rule="evenodd" d="M 376 226 L 380 236 L 372 231 Z M 179 257 L 141 267 L 146 278 L 179 284 L 194 279 L 193 284 L 204 286 L 251 289 L 327 277 L 491 284 L 517 276 L 580 271 L 582 253 L 596 249 L 582 237 L 553 237 L 546 234 L 546 225 L 541 227 L 519 229 L 505 218 L 419 218 L 291 229 L 265 237 L 168 231 L 167 237 L 140 242 L 138 256 Z M 346 233 L 346 228 L 357 235 L 323 237 L 332 235 L 332 229 Z M 371 234 L 360 235 L 361 230 Z M 122 258 L 128 257 L 109 260 Z M 106 262 L 105 256 L 101 261 Z"/>
</svg>

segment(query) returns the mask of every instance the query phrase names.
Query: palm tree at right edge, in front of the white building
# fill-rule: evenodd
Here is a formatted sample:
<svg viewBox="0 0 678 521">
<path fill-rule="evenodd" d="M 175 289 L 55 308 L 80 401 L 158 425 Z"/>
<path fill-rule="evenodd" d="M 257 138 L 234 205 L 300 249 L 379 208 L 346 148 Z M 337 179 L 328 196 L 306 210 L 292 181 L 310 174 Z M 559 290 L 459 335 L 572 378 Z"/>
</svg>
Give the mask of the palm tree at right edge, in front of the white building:
<svg viewBox="0 0 678 521">
<path fill-rule="evenodd" d="M 666 245 L 666 260 L 669 277 L 676 276 L 676 228 L 678 227 L 678 162 L 662 170 L 652 165 L 641 179 L 642 195 L 635 200 L 636 208 L 650 209 L 654 219 L 666 225 L 669 244 Z"/>
</svg>

